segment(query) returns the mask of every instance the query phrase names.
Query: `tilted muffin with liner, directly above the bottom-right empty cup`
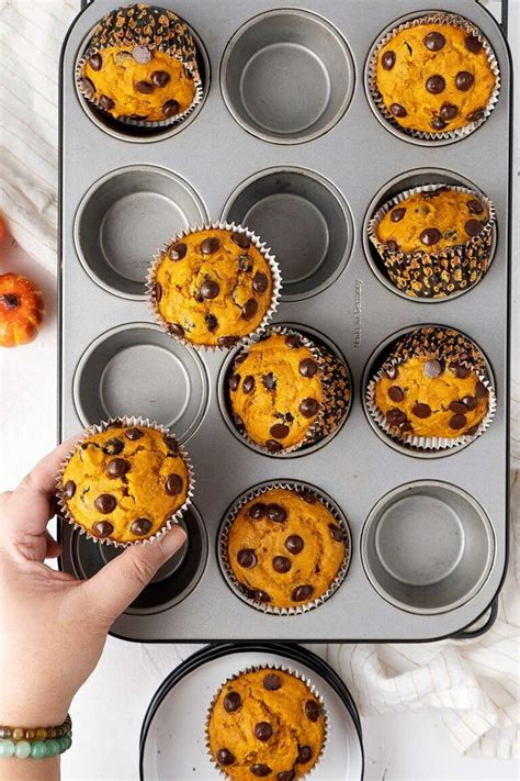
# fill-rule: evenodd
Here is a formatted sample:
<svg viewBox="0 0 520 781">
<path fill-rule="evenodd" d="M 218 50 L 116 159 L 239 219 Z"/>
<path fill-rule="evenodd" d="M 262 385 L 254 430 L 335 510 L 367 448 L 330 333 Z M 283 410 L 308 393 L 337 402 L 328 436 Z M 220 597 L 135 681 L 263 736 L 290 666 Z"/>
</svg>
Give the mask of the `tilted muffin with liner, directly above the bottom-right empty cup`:
<svg viewBox="0 0 520 781">
<path fill-rule="evenodd" d="M 369 406 L 392 436 L 450 440 L 479 432 L 491 397 L 478 348 L 454 330 L 425 327 L 392 347 L 369 388 Z"/>
</svg>

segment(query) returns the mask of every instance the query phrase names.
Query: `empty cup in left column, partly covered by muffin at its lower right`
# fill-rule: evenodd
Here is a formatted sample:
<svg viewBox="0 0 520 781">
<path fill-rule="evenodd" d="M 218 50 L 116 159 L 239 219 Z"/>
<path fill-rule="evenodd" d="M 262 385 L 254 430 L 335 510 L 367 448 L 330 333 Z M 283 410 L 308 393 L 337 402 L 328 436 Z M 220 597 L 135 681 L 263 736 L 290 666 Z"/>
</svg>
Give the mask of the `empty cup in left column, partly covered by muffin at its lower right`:
<svg viewBox="0 0 520 781">
<path fill-rule="evenodd" d="M 121 168 L 97 181 L 81 201 L 76 249 L 99 286 L 144 300 L 150 258 L 165 234 L 206 219 L 201 198 L 177 174 L 151 166 Z"/>
</svg>

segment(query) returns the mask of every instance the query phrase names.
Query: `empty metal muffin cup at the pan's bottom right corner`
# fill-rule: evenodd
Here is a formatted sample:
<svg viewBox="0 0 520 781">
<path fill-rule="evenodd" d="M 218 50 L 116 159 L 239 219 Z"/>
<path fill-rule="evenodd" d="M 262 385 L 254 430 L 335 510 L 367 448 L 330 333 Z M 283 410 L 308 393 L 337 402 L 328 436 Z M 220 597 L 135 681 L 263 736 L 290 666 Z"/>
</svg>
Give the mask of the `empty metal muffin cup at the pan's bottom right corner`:
<svg viewBox="0 0 520 781">
<path fill-rule="evenodd" d="M 489 518 L 456 486 L 419 480 L 377 502 L 361 537 L 361 557 L 374 589 L 417 614 L 456 610 L 484 585 L 495 556 Z"/>
</svg>

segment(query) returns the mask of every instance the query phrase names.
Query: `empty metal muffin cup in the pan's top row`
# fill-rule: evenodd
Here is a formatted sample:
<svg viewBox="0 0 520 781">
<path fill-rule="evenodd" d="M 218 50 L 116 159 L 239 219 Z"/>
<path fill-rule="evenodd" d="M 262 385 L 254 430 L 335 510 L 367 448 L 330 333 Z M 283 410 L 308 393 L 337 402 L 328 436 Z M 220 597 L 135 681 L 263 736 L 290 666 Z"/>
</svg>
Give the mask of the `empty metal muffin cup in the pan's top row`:
<svg viewBox="0 0 520 781">
<path fill-rule="evenodd" d="M 263 141 L 297 144 L 342 118 L 354 86 L 352 57 L 338 30 L 299 9 L 250 19 L 223 57 L 224 100 L 242 127 Z"/>
</svg>

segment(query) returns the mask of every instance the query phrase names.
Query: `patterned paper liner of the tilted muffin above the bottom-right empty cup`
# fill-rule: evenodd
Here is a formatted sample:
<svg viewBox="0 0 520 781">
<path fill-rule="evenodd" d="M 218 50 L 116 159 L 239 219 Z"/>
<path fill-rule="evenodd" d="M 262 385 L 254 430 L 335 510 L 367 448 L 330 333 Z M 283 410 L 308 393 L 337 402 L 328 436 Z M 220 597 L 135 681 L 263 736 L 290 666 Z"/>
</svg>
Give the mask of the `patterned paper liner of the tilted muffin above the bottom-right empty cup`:
<svg viewBox="0 0 520 781">
<path fill-rule="evenodd" d="M 397 427 L 393 427 L 388 424 L 386 416 L 381 412 L 381 410 L 375 403 L 375 388 L 377 381 L 381 379 L 381 377 L 383 377 L 385 368 L 388 368 L 389 366 L 398 368 L 402 364 L 408 360 L 408 358 L 411 358 L 414 356 L 425 357 L 425 355 L 428 355 L 429 357 L 438 360 L 445 360 L 446 355 L 443 350 L 443 347 L 445 345 L 445 336 L 448 336 L 449 338 L 456 337 L 459 341 L 459 346 L 461 347 L 461 359 L 456 360 L 456 362 L 461 366 L 465 366 L 466 368 L 472 369 L 476 373 L 481 382 L 483 382 L 483 384 L 487 388 L 487 391 L 489 393 L 487 413 L 478 424 L 475 434 L 463 434 L 457 437 L 426 437 L 406 434 L 406 432 L 399 432 Z M 437 346 L 432 345 L 430 346 L 429 350 L 422 350 L 421 342 L 423 337 L 432 337 L 433 342 L 437 342 Z M 411 343 L 412 341 L 415 341 L 416 344 L 410 344 L 410 346 L 408 347 L 408 343 Z M 417 328 L 410 332 L 409 334 L 405 334 L 403 337 L 396 339 L 393 345 L 393 348 L 395 347 L 400 350 L 402 355 L 391 356 L 383 362 L 381 368 L 370 380 L 366 387 L 365 394 L 366 409 L 372 420 L 375 421 L 377 426 L 391 439 L 394 439 L 400 443 L 402 445 L 406 445 L 407 447 L 416 450 L 442 450 L 468 445 L 471 442 L 482 436 L 482 434 L 484 434 L 487 428 L 489 428 L 497 410 L 497 398 L 491 383 L 491 379 L 487 373 L 486 361 L 482 352 L 479 350 L 477 345 L 475 345 L 475 343 L 473 343 L 470 338 L 455 331 L 454 328 L 426 327 Z M 450 358 L 456 359 L 456 353 L 453 353 Z"/>
</svg>

